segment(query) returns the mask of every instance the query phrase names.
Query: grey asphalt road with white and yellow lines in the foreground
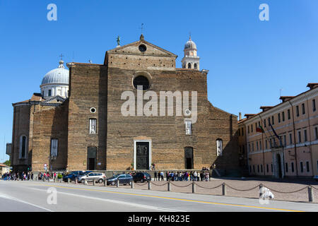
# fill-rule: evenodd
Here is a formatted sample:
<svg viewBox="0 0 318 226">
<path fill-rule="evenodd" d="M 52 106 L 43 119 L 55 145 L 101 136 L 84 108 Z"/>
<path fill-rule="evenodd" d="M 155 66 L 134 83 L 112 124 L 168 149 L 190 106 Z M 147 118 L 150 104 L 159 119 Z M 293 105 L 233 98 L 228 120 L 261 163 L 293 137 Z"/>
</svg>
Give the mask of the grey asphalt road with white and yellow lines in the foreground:
<svg viewBox="0 0 318 226">
<path fill-rule="evenodd" d="M 317 212 L 318 204 L 287 201 L 261 204 L 257 198 L 0 180 L 0 212 L 6 211 Z"/>
</svg>

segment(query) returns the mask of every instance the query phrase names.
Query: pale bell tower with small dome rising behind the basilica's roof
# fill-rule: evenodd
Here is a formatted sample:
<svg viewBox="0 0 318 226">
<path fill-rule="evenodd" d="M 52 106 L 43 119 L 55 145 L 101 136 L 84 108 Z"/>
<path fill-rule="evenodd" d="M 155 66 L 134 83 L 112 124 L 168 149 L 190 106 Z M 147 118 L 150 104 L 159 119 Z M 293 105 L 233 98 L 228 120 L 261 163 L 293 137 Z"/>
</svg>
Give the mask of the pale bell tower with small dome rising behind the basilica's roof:
<svg viewBox="0 0 318 226">
<path fill-rule="evenodd" d="M 191 35 L 189 40 L 184 45 L 184 57 L 182 58 L 182 69 L 200 69 L 200 57 L 196 54 L 196 44 L 191 40 Z"/>
</svg>

